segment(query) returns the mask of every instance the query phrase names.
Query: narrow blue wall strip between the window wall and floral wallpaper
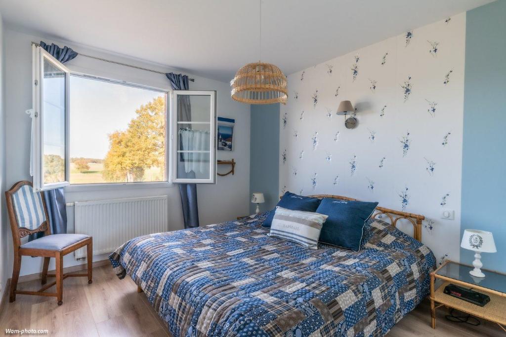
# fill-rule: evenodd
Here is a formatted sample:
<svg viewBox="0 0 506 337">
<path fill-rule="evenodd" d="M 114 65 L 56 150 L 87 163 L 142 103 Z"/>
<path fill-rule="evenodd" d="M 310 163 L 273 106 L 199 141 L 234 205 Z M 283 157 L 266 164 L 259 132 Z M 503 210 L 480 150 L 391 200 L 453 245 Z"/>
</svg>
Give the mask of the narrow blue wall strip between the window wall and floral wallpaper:
<svg viewBox="0 0 506 337">
<path fill-rule="evenodd" d="M 262 212 L 276 206 L 279 198 L 279 104 L 251 105 L 249 191 L 263 192 Z M 250 205 L 255 213 L 256 205 Z"/>
</svg>

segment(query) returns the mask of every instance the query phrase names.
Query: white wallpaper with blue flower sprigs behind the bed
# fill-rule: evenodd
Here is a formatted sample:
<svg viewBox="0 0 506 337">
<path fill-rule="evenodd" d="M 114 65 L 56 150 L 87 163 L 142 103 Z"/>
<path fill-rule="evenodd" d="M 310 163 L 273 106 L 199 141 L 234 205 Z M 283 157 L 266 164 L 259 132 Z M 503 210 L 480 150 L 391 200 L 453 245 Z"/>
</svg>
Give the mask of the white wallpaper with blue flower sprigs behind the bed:
<svg viewBox="0 0 506 337">
<path fill-rule="evenodd" d="M 466 14 L 462 13 L 449 23 L 440 21 L 415 29 L 408 45 L 405 34 L 399 35 L 289 75 L 288 105 L 285 110 L 281 108 L 281 118 L 286 112 L 287 124 L 283 127 L 281 122 L 280 126 L 280 190 L 349 196 L 401 210 L 400 195 L 407 187 L 405 211 L 428 218 L 423 242 L 438 259 L 448 254 L 458 261 L 465 21 Z M 436 55 L 429 52 L 429 41 L 439 42 Z M 358 75 L 353 80 L 355 56 L 359 57 Z M 450 81 L 445 85 L 450 70 Z M 401 85 L 408 76 L 412 93 L 405 101 Z M 371 89 L 371 80 L 376 81 L 375 90 Z M 339 94 L 335 95 L 338 87 Z M 314 105 L 316 90 L 318 102 Z M 335 114 L 342 100 L 350 100 L 357 108 L 356 129 L 346 129 L 344 116 Z M 426 100 L 437 103 L 434 117 Z M 327 111 L 331 117 L 326 116 Z M 408 131 L 410 149 L 403 156 L 401 140 Z M 316 132 L 318 145 L 313 150 Z M 371 132 L 375 132 L 374 140 L 370 139 Z M 447 132 L 451 134 L 443 146 Z M 303 159 L 299 158 L 301 151 Z M 331 155 L 330 161 L 327 155 Z M 356 172 L 352 174 L 354 156 Z M 435 162 L 433 174 L 427 170 L 426 159 Z M 339 178 L 334 184 L 336 176 Z M 373 189 L 369 188 L 371 182 Z M 440 218 L 440 204 L 447 193 L 444 207 L 455 211 L 453 221 Z"/>
</svg>

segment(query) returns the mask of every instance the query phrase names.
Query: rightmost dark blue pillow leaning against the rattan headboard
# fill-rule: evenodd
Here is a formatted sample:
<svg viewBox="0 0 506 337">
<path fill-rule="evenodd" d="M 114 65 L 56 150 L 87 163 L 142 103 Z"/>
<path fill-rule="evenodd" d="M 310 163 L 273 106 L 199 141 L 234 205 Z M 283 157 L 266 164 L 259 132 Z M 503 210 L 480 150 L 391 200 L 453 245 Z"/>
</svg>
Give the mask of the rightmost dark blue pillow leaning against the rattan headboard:
<svg viewBox="0 0 506 337">
<path fill-rule="evenodd" d="M 316 213 L 328 215 L 321 229 L 319 242 L 360 250 L 365 222 L 378 203 L 323 198 Z"/>
</svg>

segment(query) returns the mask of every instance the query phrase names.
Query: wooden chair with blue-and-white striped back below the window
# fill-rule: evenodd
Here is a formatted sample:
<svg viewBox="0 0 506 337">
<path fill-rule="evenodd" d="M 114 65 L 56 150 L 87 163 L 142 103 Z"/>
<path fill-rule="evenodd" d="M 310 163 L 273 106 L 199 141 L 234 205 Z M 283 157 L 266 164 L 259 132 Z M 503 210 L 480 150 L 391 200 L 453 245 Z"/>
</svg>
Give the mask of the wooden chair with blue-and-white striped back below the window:
<svg viewBox="0 0 506 337">
<path fill-rule="evenodd" d="M 93 238 L 86 234 L 51 234 L 48 210 L 44 196 L 33 192 L 30 181 L 19 181 L 5 192 L 7 211 L 11 222 L 12 239 L 14 242 L 14 267 L 12 270 L 11 292 L 9 302 L 16 301 L 16 294 L 54 296 L 58 305 L 63 304 L 63 280 L 71 276 L 87 276 L 92 283 Z M 44 232 L 44 236 L 28 243 L 21 244 L 26 235 Z M 88 273 L 63 274 L 63 256 L 76 249 L 87 246 Z M 41 283 L 46 284 L 47 277 L 56 277 L 56 281 L 46 284 L 36 292 L 17 290 L 19 270 L 22 256 L 44 257 Z M 49 259 L 56 260 L 56 274 L 48 275 Z M 47 293 L 56 284 L 56 293 Z"/>
</svg>

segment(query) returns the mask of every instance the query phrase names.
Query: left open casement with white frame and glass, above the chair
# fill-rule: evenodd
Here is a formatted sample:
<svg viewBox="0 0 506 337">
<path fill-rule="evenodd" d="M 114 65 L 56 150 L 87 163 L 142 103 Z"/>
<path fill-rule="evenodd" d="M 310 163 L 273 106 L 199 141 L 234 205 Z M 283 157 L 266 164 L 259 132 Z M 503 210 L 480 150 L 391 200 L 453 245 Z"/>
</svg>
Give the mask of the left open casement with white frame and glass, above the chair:
<svg viewBox="0 0 506 337">
<path fill-rule="evenodd" d="M 68 185 L 69 71 L 41 47 L 33 52 L 31 168 L 34 190 Z"/>
</svg>

